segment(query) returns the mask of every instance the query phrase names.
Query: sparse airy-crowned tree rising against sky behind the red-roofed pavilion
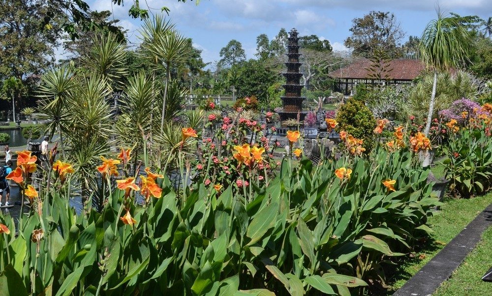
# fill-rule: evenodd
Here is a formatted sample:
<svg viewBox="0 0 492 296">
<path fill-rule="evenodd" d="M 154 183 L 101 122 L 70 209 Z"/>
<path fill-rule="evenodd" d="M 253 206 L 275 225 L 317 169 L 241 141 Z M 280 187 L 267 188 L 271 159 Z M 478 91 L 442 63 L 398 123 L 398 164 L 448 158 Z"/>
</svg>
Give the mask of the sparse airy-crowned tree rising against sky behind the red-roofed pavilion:
<svg viewBox="0 0 492 296">
<path fill-rule="evenodd" d="M 400 22 L 390 12 L 371 11 L 352 20 L 352 35 L 345 39 L 346 47 L 355 55 L 369 57 L 374 48 L 381 48 L 392 58 L 400 56 L 399 45 L 405 33 Z"/>
</svg>

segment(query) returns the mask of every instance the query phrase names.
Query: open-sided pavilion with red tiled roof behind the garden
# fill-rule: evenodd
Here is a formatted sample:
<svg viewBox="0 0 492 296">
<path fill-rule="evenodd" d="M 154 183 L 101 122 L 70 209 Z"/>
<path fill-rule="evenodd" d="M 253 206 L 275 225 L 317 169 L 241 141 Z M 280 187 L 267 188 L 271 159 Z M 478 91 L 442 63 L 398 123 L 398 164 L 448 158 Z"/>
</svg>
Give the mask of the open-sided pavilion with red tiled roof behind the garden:
<svg viewBox="0 0 492 296">
<path fill-rule="evenodd" d="M 372 62 L 369 59 L 358 59 L 352 64 L 331 72 L 330 77 L 338 80 L 336 90 L 350 95 L 358 83 L 367 85 L 378 84 L 410 84 L 412 80 L 425 70 L 419 59 L 393 59 L 387 65 L 389 77 L 386 80 L 371 79 L 368 70 Z"/>
</svg>

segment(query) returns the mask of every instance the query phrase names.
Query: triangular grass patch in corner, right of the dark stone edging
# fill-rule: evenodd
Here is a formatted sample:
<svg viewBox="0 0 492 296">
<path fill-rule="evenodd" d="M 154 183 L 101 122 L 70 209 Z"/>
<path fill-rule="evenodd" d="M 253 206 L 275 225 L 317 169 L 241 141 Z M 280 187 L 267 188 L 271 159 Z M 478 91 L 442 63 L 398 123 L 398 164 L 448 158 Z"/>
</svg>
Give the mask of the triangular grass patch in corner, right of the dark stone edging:
<svg viewBox="0 0 492 296">
<path fill-rule="evenodd" d="M 451 278 L 433 294 L 434 296 L 486 296 L 492 295 L 492 283 L 482 281 L 482 276 L 492 266 L 492 227 L 466 256 Z"/>
</svg>

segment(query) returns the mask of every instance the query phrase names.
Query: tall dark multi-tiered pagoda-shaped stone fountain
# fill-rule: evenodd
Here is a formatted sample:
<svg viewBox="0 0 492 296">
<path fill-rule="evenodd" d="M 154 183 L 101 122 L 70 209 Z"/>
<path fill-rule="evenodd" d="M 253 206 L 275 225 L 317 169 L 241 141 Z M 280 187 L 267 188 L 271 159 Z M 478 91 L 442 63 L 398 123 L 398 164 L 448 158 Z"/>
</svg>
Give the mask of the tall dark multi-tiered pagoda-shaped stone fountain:
<svg viewBox="0 0 492 296">
<path fill-rule="evenodd" d="M 280 120 L 298 119 L 303 121 L 307 112 L 303 111 L 303 101 L 305 97 L 301 96 L 301 89 L 303 85 L 300 84 L 300 79 L 303 74 L 299 68 L 302 63 L 299 62 L 299 37 L 298 32 L 294 28 L 289 32 L 289 43 L 287 45 L 287 72 L 282 73 L 286 79 L 286 83 L 283 86 L 285 89 L 285 96 L 282 99 L 282 111 L 278 112 Z"/>
</svg>

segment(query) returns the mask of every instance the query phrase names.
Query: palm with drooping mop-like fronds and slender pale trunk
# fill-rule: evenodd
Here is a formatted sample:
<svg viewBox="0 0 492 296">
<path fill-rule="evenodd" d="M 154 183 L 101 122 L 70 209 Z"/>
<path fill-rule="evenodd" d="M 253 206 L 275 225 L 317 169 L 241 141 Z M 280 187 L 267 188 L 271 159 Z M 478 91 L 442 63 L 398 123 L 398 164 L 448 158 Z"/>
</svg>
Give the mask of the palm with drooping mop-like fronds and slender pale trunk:
<svg viewBox="0 0 492 296">
<path fill-rule="evenodd" d="M 431 101 L 427 114 L 424 134 L 431 130 L 432 114 L 434 112 L 437 73 L 458 67 L 468 54 L 468 33 L 453 18 L 446 17 L 439 10 L 437 19 L 432 20 L 422 33 L 419 51 L 426 67 L 433 73 Z M 426 153 L 423 166 L 430 163 L 430 155 Z"/>
</svg>

